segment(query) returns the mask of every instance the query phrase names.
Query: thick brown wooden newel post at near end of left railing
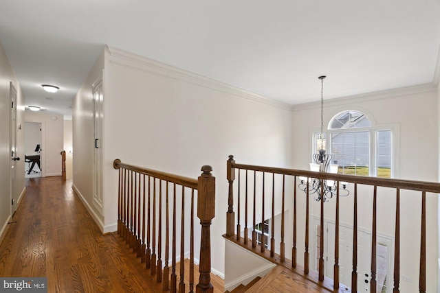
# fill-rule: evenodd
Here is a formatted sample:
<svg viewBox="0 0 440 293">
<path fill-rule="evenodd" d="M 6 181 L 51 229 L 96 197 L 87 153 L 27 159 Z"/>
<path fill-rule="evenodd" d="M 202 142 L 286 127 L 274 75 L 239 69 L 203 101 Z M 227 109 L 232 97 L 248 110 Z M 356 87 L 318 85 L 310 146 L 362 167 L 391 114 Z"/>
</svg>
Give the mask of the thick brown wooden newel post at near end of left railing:
<svg viewBox="0 0 440 293">
<path fill-rule="evenodd" d="M 196 292 L 214 292 L 211 284 L 211 240 L 210 225 L 215 215 L 215 178 L 212 176 L 212 167 L 201 167 L 203 173 L 198 178 L 197 217 L 201 224 L 200 241 L 200 278 Z"/>
</svg>

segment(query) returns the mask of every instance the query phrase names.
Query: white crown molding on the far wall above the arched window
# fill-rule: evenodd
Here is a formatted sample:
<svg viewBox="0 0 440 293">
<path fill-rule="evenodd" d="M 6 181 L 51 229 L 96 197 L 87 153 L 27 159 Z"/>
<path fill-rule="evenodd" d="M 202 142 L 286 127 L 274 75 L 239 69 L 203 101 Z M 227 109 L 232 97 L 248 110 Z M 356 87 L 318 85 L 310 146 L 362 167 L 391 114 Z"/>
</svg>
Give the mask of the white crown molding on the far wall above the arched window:
<svg viewBox="0 0 440 293">
<path fill-rule="evenodd" d="M 437 92 L 437 85 L 433 82 L 430 84 L 419 84 L 416 86 L 405 86 L 398 89 L 389 89 L 385 91 L 376 91 L 372 93 L 363 93 L 360 95 L 349 95 L 347 97 L 336 97 L 325 100 L 326 106 L 343 106 L 347 104 L 369 102 L 376 99 L 387 99 L 391 97 L 401 97 L 404 95 L 415 95 L 420 93 Z M 307 110 L 321 106 L 321 102 L 311 102 L 292 106 L 292 111 Z"/>
</svg>

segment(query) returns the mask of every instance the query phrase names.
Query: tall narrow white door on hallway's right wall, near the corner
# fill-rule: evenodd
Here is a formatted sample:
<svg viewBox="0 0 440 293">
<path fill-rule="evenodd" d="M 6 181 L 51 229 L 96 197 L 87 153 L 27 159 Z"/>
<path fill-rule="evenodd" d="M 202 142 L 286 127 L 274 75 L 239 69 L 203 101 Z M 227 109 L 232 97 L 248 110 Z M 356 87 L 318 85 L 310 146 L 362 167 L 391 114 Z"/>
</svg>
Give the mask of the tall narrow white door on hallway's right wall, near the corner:
<svg viewBox="0 0 440 293">
<path fill-rule="evenodd" d="M 102 213 L 102 78 L 92 87 L 94 98 L 94 205 Z"/>
</svg>

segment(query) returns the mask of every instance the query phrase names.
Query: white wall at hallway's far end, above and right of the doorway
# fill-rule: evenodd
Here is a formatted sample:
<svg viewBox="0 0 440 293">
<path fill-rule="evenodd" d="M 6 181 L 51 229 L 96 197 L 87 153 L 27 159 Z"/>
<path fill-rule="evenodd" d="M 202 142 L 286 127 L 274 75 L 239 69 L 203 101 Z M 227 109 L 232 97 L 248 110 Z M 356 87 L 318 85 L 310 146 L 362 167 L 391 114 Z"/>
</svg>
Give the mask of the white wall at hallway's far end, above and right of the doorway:
<svg viewBox="0 0 440 293">
<path fill-rule="evenodd" d="M 25 111 L 26 122 L 41 123 L 41 176 L 61 176 L 61 152 L 63 151 L 63 115 Z"/>
</svg>

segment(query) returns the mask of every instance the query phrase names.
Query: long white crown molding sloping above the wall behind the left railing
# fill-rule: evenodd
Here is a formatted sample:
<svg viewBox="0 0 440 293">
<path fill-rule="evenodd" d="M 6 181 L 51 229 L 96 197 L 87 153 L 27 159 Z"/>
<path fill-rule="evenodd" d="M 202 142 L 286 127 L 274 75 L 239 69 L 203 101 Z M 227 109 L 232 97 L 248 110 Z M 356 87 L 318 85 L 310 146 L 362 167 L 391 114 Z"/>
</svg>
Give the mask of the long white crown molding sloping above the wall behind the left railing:
<svg viewBox="0 0 440 293">
<path fill-rule="evenodd" d="M 148 71 L 158 75 L 164 75 L 168 78 L 174 78 L 191 84 L 196 84 L 198 86 L 203 86 L 207 89 L 212 89 L 214 91 L 219 91 L 222 93 L 228 93 L 242 99 L 247 99 L 252 102 L 259 104 L 266 104 L 269 106 L 274 106 L 276 108 L 283 108 L 285 110 L 291 110 L 292 105 L 285 104 L 283 102 L 278 102 L 274 99 L 263 97 L 256 93 L 246 91 L 244 89 L 239 89 L 236 86 L 231 86 L 230 84 L 225 84 L 217 80 L 212 80 L 203 75 L 197 73 L 192 73 L 184 69 L 179 69 L 170 65 L 166 65 L 162 62 L 146 58 L 137 54 L 133 54 L 122 49 L 117 49 L 114 47 L 107 46 L 109 52 L 109 61 L 113 64 L 129 66 L 142 71 Z"/>
</svg>

